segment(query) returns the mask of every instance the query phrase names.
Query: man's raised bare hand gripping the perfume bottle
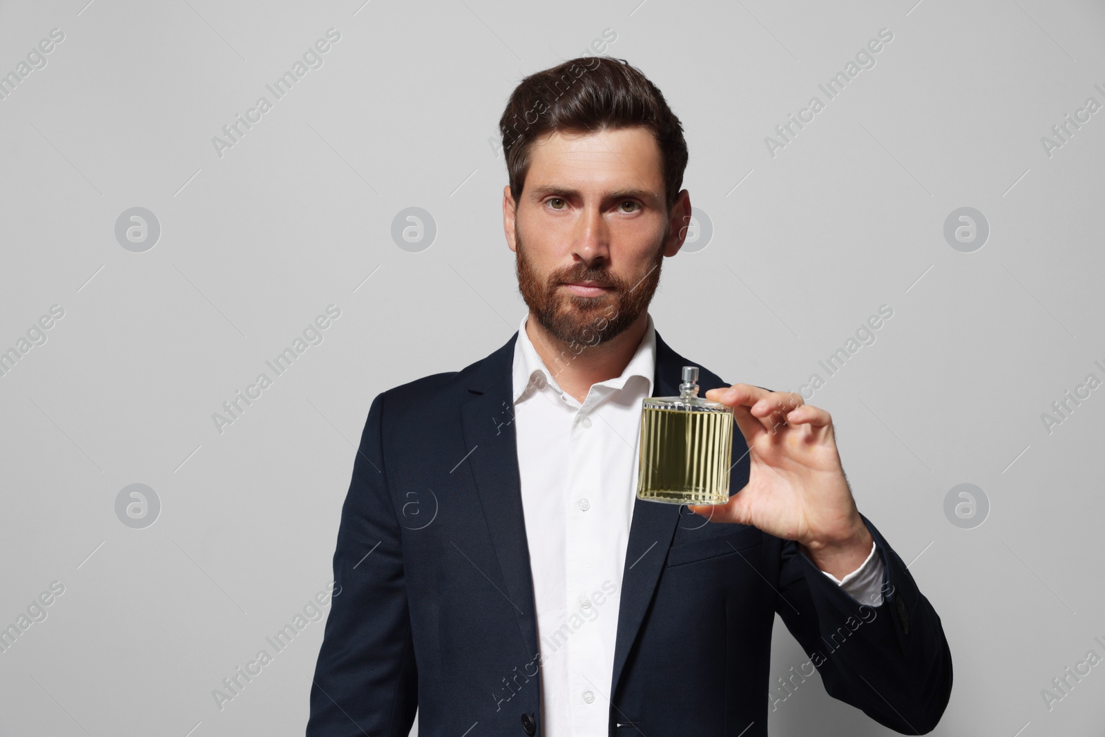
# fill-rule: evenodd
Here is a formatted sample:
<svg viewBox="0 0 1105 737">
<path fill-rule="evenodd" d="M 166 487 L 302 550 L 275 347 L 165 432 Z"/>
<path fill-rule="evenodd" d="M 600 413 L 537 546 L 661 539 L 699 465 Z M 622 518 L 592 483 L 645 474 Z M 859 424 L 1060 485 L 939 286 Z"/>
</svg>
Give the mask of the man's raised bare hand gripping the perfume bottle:
<svg viewBox="0 0 1105 737">
<path fill-rule="evenodd" d="M 711 389 L 705 397 L 734 408 L 751 468 L 748 484 L 728 504 L 687 508 L 712 522 L 753 525 L 796 540 L 838 579 L 859 568 L 872 538 L 844 477 L 829 413 L 796 392 L 747 383 Z"/>
</svg>

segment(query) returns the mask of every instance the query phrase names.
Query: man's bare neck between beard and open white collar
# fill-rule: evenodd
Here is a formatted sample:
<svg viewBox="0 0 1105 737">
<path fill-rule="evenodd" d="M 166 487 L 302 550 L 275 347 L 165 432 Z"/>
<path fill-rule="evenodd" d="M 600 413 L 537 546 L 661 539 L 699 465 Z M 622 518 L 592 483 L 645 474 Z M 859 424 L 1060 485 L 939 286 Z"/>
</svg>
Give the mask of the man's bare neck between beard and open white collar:
<svg viewBox="0 0 1105 737">
<path fill-rule="evenodd" d="M 591 386 L 622 375 L 641 346 L 649 327 L 642 313 L 620 335 L 599 345 L 569 344 L 550 335 L 534 317 L 526 318 L 526 335 L 556 382 L 582 403 Z"/>
</svg>

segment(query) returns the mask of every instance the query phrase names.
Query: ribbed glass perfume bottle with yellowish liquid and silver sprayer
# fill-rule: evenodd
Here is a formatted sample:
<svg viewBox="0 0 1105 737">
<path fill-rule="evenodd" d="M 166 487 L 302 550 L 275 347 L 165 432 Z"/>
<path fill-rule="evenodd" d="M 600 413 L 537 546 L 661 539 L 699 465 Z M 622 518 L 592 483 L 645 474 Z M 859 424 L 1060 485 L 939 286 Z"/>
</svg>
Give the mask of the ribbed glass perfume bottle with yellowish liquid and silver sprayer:
<svg viewBox="0 0 1105 737">
<path fill-rule="evenodd" d="M 728 502 L 733 424 L 733 408 L 699 398 L 698 367 L 684 366 L 678 397 L 648 397 L 642 403 L 638 498 Z"/>
</svg>

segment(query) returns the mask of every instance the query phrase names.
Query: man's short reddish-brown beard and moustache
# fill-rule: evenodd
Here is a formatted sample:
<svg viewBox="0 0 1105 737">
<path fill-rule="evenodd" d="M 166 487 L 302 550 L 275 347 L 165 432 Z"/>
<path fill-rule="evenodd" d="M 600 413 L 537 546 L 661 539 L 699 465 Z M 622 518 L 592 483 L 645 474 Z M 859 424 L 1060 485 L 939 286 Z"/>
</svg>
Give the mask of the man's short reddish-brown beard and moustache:
<svg viewBox="0 0 1105 737">
<path fill-rule="evenodd" d="M 667 233 L 664 235 L 666 238 Z M 517 222 L 514 240 L 515 271 L 522 298 L 538 324 L 566 346 L 597 346 L 618 337 L 648 310 L 660 285 L 663 239 L 656 244 L 656 255 L 644 271 L 628 280 L 603 266 L 588 267 L 582 263 L 540 274 L 527 255 Z M 609 288 L 594 297 L 583 297 L 561 288 L 565 283 L 591 281 Z"/>
</svg>

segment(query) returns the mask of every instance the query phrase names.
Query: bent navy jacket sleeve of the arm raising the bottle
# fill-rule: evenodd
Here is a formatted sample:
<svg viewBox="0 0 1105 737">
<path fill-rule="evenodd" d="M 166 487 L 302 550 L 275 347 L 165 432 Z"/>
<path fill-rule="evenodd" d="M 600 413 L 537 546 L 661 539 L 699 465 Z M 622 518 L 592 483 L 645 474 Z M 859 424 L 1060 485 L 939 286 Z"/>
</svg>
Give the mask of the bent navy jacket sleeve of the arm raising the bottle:
<svg viewBox="0 0 1105 737">
<path fill-rule="evenodd" d="M 883 560 L 882 603 L 857 602 L 786 540 L 776 611 L 830 696 L 899 734 L 928 734 L 951 696 L 951 652 L 905 564 L 860 516 Z"/>
</svg>

